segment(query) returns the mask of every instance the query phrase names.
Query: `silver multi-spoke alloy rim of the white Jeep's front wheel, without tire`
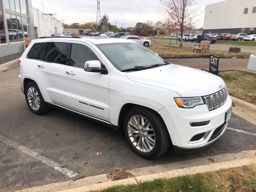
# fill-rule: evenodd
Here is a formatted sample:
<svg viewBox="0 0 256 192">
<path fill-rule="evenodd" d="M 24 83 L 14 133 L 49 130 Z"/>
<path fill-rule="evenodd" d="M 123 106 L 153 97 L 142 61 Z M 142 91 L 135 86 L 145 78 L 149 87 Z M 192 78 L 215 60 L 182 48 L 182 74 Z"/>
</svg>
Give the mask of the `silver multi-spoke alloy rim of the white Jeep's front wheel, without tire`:
<svg viewBox="0 0 256 192">
<path fill-rule="evenodd" d="M 132 144 L 141 152 L 150 152 L 155 146 L 154 129 L 143 116 L 134 115 L 129 119 L 128 135 Z"/>
</svg>

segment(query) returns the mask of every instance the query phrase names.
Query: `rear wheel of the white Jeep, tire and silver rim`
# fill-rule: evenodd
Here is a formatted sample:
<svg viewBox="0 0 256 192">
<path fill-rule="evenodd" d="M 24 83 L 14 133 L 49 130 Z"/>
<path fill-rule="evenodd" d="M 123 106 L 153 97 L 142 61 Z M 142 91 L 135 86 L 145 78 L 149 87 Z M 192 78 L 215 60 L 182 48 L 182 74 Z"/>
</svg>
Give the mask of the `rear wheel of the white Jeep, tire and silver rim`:
<svg viewBox="0 0 256 192">
<path fill-rule="evenodd" d="M 25 88 L 25 97 L 28 108 L 34 114 L 44 114 L 49 110 L 36 82 L 28 82 Z"/>
</svg>

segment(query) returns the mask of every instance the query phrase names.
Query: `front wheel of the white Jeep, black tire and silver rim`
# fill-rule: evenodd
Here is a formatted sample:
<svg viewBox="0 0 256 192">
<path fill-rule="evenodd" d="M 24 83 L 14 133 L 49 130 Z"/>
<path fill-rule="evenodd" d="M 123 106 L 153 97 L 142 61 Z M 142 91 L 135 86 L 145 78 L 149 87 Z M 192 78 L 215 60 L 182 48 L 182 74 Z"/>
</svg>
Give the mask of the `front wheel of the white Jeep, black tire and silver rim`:
<svg viewBox="0 0 256 192">
<path fill-rule="evenodd" d="M 157 112 L 135 107 L 124 118 L 124 135 L 132 150 L 139 156 L 152 159 L 164 154 L 171 140 Z"/>
</svg>

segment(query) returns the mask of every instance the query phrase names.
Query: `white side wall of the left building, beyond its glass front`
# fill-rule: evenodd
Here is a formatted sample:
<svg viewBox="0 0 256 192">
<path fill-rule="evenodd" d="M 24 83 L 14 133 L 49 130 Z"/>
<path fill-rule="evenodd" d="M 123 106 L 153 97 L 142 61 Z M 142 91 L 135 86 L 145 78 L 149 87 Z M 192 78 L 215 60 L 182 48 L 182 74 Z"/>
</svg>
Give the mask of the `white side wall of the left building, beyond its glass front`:
<svg viewBox="0 0 256 192">
<path fill-rule="evenodd" d="M 63 24 L 53 16 L 33 8 L 34 29 L 36 37 L 51 36 L 53 33 L 62 33 Z"/>
</svg>

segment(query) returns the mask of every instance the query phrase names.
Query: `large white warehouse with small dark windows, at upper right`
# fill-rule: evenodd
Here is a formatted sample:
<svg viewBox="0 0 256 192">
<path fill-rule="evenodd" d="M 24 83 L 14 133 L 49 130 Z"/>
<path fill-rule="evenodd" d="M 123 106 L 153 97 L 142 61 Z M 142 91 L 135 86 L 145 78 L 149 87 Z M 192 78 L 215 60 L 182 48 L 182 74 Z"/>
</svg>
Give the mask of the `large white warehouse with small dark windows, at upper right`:
<svg viewBox="0 0 256 192">
<path fill-rule="evenodd" d="M 256 0 L 225 0 L 206 5 L 203 33 L 256 34 Z"/>
</svg>

